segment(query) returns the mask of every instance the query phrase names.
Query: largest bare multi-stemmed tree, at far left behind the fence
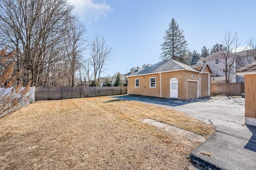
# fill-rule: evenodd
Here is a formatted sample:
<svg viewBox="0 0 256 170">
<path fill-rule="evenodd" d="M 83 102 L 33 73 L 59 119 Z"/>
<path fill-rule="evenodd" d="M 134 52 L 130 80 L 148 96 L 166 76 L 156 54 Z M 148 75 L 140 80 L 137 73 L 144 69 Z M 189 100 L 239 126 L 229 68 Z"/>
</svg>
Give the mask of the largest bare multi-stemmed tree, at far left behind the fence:
<svg viewBox="0 0 256 170">
<path fill-rule="evenodd" d="M 0 41 L 16 50 L 20 80 L 32 86 L 52 78 L 54 85 L 67 84 L 66 75 L 56 71 L 67 64 L 64 40 L 72 31 L 73 8 L 67 0 L 1 0 Z"/>
</svg>

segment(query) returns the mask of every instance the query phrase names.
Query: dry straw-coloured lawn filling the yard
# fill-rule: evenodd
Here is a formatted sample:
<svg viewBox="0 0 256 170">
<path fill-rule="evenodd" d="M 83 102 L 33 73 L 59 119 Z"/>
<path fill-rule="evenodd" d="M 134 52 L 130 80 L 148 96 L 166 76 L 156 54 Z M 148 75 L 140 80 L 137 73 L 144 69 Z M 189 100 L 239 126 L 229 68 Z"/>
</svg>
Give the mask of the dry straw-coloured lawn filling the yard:
<svg viewBox="0 0 256 170">
<path fill-rule="evenodd" d="M 200 142 L 144 118 L 214 133 L 184 113 L 111 97 L 38 101 L 0 119 L 0 169 L 188 169 Z"/>
</svg>

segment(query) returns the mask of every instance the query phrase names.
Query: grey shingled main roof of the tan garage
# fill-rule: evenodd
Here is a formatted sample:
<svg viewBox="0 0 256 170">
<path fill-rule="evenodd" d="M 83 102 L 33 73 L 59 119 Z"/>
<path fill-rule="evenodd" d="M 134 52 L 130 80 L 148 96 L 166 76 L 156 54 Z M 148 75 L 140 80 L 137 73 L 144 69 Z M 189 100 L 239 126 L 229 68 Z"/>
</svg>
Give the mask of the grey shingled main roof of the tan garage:
<svg viewBox="0 0 256 170">
<path fill-rule="evenodd" d="M 176 71 L 176 70 L 188 70 L 200 73 L 200 71 L 193 69 L 189 65 L 180 63 L 175 60 L 167 60 L 167 61 L 160 61 L 150 67 L 146 67 L 140 71 L 137 71 L 130 76 L 133 75 L 143 75 L 143 74 L 150 74 L 150 73 L 159 73 L 159 72 L 167 72 L 167 71 Z"/>
</svg>

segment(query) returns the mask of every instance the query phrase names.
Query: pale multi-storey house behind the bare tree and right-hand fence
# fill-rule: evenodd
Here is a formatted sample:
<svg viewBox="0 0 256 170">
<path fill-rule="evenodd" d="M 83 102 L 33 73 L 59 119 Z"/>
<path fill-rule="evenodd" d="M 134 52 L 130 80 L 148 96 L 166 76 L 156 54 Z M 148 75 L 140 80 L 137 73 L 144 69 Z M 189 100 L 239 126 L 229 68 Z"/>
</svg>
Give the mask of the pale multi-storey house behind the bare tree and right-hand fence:
<svg viewBox="0 0 256 170">
<path fill-rule="evenodd" d="M 226 82 L 225 72 L 230 72 L 229 76 L 229 82 L 230 83 L 239 83 L 244 82 L 244 77 L 237 76 L 234 71 L 237 69 L 240 69 L 244 67 L 245 65 L 252 63 L 255 61 L 255 49 L 236 52 L 236 54 L 231 53 L 231 55 L 228 57 L 227 63 L 228 65 L 232 63 L 234 57 L 234 63 L 231 67 L 231 69 L 225 70 L 225 58 L 224 56 L 227 55 L 224 51 L 217 51 L 216 53 L 213 53 L 211 55 L 208 55 L 207 57 L 204 57 L 203 59 L 200 59 L 200 63 L 208 63 L 210 67 L 212 68 L 212 71 L 214 73 L 212 77 L 212 83 L 224 83 Z M 234 56 L 235 55 L 235 56 Z"/>
</svg>

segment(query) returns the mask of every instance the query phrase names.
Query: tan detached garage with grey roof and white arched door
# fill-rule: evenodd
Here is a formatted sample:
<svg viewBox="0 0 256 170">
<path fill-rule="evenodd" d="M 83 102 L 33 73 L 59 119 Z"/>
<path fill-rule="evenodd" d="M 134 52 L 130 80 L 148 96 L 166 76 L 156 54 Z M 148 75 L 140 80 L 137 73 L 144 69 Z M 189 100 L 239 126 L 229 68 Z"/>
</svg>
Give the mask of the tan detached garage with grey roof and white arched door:
<svg viewBox="0 0 256 170">
<path fill-rule="evenodd" d="M 161 61 L 128 75 L 128 94 L 181 100 L 207 97 L 211 75 L 208 63 L 189 66 Z"/>
</svg>

